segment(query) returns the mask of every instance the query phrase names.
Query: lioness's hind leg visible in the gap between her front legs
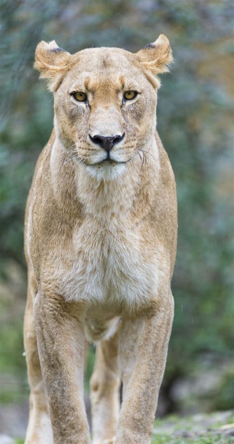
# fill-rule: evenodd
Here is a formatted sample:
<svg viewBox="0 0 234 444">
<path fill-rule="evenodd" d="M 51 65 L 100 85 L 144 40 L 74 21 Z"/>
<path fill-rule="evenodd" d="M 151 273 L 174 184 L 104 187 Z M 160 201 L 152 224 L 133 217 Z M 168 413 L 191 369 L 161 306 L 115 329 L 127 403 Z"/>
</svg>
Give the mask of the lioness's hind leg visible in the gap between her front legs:
<svg viewBox="0 0 234 444">
<path fill-rule="evenodd" d="M 97 346 L 90 380 L 93 444 L 112 443 L 119 413 L 117 333 Z"/>
</svg>

